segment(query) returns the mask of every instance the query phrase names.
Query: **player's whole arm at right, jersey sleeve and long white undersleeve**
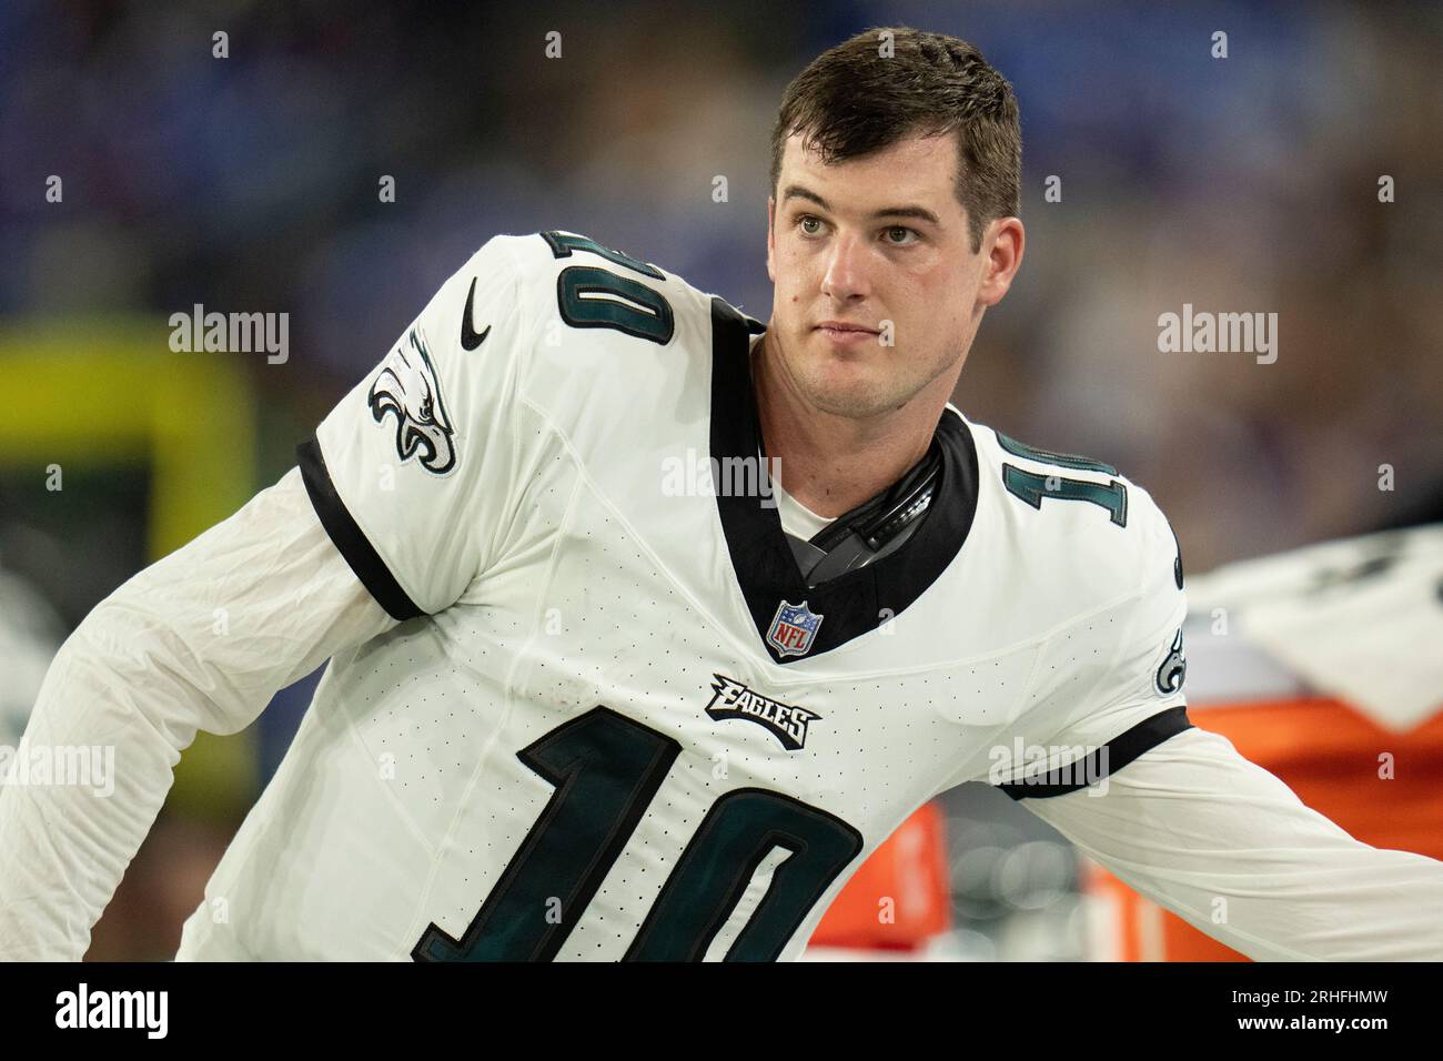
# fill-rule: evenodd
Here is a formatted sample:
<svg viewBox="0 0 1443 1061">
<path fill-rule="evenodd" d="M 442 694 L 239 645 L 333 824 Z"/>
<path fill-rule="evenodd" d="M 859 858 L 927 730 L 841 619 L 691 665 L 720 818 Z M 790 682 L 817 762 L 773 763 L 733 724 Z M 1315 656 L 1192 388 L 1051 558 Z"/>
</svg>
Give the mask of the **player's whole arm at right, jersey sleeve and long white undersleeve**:
<svg viewBox="0 0 1443 1061">
<path fill-rule="evenodd" d="M 1144 570 L 1126 634 L 1051 741 L 1087 751 L 1091 768 L 1049 771 L 1065 784 L 1003 788 L 1131 888 L 1248 957 L 1443 959 L 1443 862 L 1355 840 L 1227 738 L 1188 722 L 1176 543 L 1150 499 L 1134 512 Z"/>
</svg>

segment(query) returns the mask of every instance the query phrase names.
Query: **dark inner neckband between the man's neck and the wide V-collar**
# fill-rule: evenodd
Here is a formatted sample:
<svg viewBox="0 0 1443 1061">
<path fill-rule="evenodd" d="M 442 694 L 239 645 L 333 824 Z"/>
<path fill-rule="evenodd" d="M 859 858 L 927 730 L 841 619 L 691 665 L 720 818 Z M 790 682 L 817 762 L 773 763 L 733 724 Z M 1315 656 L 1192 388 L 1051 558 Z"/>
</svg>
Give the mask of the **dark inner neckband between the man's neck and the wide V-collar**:
<svg viewBox="0 0 1443 1061">
<path fill-rule="evenodd" d="M 807 586 L 820 586 L 900 549 L 922 525 L 941 471 L 942 449 L 934 439 L 912 471 L 877 497 L 838 515 L 810 541 L 788 534 Z"/>
</svg>

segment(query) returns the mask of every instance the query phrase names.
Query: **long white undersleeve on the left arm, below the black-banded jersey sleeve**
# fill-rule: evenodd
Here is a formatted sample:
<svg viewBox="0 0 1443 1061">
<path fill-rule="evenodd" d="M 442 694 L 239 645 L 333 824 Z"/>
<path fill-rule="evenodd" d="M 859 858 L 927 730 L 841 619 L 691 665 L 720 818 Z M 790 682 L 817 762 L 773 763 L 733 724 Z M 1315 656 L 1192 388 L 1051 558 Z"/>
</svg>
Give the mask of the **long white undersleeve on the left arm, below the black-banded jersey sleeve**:
<svg viewBox="0 0 1443 1061">
<path fill-rule="evenodd" d="M 278 689 L 394 625 L 296 468 L 101 601 L 51 663 L 17 758 L 113 746 L 114 791 L 0 785 L 0 957 L 78 961 L 196 730 L 244 729 Z"/>
</svg>

